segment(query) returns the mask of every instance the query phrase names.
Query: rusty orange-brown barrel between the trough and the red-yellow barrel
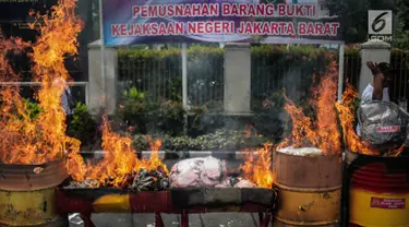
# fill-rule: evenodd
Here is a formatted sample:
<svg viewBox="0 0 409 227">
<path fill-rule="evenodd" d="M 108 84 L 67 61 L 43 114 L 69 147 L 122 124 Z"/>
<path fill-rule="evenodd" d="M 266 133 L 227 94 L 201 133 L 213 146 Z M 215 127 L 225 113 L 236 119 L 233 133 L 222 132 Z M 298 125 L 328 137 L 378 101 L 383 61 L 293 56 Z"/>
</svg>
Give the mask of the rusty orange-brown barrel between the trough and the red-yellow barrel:
<svg viewBox="0 0 409 227">
<path fill-rule="evenodd" d="M 274 226 L 339 226 L 340 155 L 297 156 L 275 152 L 277 204 Z"/>
</svg>

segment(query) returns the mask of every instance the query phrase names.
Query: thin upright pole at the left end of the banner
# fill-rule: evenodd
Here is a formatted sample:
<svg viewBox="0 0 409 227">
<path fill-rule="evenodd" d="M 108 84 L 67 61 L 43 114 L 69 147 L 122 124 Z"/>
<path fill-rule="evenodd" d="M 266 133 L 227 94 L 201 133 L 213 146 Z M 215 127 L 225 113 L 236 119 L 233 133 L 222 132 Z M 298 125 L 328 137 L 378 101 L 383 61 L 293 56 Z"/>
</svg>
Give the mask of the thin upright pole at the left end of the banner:
<svg viewBox="0 0 409 227">
<path fill-rule="evenodd" d="M 104 38 L 104 16 L 103 0 L 99 0 L 99 36 L 100 36 L 100 79 L 101 79 L 101 109 L 106 111 L 106 80 L 105 80 L 105 38 Z"/>
</svg>

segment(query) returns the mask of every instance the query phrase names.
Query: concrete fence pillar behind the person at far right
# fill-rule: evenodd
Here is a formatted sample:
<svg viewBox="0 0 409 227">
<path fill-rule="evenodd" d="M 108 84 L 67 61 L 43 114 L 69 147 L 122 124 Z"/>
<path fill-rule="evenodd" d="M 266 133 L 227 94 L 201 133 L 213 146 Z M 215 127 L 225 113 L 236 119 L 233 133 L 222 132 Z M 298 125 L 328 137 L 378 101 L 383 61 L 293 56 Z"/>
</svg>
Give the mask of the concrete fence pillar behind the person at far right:
<svg viewBox="0 0 409 227">
<path fill-rule="evenodd" d="M 390 62 L 390 45 L 381 40 L 370 40 L 361 45 L 361 75 L 359 79 L 359 94 L 362 95 L 368 84 L 372 83 L 373 75 L 366 67 L 366 61 L 374 63 Z"/>
</svg>

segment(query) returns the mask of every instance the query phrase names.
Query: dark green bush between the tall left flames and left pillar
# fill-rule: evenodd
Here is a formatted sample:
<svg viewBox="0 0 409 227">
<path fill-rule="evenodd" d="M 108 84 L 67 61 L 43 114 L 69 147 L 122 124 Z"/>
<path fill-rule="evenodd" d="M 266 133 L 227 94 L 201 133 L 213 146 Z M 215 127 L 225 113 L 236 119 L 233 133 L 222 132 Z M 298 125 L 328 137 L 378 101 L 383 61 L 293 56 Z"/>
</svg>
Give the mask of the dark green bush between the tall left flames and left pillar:
<svg viewBox="0 0 409 227">
<path fill-rule="evenodd" d="M 67 134 L 81 141 L 82 146 L 94 145 L 97 140 L 97 123 L 89 115 L 85 104 L 77 103 L 72 119 L 68 123 Z"/>
</svg>

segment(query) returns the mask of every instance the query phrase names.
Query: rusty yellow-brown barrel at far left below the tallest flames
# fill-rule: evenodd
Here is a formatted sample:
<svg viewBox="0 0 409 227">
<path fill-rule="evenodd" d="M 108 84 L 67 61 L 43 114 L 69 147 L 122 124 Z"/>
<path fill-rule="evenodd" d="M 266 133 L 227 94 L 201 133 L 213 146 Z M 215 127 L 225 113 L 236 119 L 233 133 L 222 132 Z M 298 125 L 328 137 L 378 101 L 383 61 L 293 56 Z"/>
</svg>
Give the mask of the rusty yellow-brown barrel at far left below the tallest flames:
<svg viewBox="0 0 409 227">
<path fill-rule="evenodd" d="M 56 187 L 67 179 L 65 159 L 43 165 L 0 164 L 0 226 L 69 226 L 57 213 Z"/>
</svg>

